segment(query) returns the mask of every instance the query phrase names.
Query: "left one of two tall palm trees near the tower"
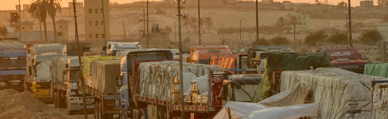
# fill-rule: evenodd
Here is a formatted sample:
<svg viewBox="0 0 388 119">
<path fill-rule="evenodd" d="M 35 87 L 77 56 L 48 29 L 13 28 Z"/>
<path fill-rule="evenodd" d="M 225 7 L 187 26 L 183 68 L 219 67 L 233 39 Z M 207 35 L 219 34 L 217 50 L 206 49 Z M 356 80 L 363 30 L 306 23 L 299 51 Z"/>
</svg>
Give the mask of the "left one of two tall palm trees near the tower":
<svg viewBox="0 0 388 119">
<path fill-rule="evenodd" d="M 36 0 L 28 5 L 28 13 L 31 14 L 31 17 L 35 19 L 40 18 L 40 22 L 43 22 L 43 27 L 45 30 L 45 41 L 47 41 L 47 9 L 49 2 L 47 0 Z"/>
</svg>

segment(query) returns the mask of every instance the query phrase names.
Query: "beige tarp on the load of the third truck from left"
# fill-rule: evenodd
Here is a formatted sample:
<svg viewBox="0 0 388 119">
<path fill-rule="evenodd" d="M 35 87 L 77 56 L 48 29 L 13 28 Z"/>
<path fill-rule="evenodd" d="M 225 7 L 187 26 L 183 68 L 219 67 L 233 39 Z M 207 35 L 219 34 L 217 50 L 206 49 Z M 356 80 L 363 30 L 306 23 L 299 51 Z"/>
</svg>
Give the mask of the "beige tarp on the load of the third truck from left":
<svg viewBox="0 0 388 119">
<path fill-rule="evenodd" d="M 62 71 L 67 70 L 65 65 L 68 63 L 69 58 L 75 58 L 76 56 L 66 56 L 66 57 L 57 57 L 51 59 L 50 64 L 50 76 L 54 78 L 54 83 L 66 83 L 65 81 L 68 81 L 66 78 L 68 76 L 68 73 L 66 75 L 62 75 Z"/>
</svg>

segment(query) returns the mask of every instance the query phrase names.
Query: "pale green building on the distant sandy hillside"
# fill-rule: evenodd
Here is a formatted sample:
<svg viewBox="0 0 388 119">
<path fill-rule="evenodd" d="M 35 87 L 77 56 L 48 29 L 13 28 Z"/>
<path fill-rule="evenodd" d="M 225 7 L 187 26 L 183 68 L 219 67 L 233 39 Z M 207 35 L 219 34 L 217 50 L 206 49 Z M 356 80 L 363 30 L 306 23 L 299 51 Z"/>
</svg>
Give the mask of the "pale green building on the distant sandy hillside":
<svg viewBox="0 0 388 119">
<path fill-rule="evenodd" d="M 286 21 L 290 21 L 292 17 L 296 17 L 296 19 L 298 19 L 298 21 L 300 22 L 300 24 L 295 25 L 296 30 L 310 29 L 310 14 L 288 14 L 286 15 L 286 17 L 284 17 L 284 19 L 286 19 Z M 291 25 L 290 27 L 291 29 L 294 29 L 293 25 Z"/>
</svg>

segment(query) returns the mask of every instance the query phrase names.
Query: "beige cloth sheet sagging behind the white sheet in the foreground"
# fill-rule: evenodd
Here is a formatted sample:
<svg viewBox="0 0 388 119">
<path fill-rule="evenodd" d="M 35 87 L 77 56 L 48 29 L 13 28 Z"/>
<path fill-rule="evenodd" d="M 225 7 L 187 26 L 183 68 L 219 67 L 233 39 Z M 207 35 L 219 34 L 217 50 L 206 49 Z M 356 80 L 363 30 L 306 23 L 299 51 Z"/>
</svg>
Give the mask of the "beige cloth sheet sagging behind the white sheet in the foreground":
<svg viewBox="0 0 388 119">
<path fill-rule="evenodd" d="M 283 92 L 268 97 L 259 103 L 265 107 L 282 107 L 303 104 L 303 100 L 305 99 L 308 90 L 310 89 L 303 89 L 302 86 L 298 85 L 298 87 L 296 87 L 294 90 L 291 88 L 284 90 Z"/>
</svg>

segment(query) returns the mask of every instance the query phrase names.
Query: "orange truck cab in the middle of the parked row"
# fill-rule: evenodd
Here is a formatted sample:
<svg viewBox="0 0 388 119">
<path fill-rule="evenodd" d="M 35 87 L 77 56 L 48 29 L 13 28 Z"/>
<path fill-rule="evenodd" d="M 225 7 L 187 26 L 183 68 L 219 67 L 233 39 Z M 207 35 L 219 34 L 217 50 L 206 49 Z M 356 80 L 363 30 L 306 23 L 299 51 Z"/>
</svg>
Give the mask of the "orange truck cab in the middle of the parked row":
<svg viewBox="0 0 388 119">
<path fill-rule="evenodd" d="M 209 64 L 209 59 L 214 55 L 230 56 L 228 46 L 191 46 L 190 63 Z"/>
</svg>

